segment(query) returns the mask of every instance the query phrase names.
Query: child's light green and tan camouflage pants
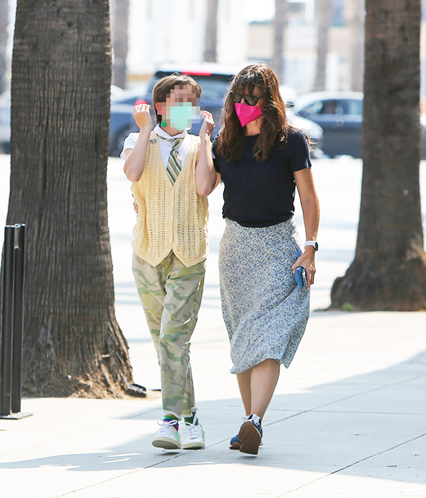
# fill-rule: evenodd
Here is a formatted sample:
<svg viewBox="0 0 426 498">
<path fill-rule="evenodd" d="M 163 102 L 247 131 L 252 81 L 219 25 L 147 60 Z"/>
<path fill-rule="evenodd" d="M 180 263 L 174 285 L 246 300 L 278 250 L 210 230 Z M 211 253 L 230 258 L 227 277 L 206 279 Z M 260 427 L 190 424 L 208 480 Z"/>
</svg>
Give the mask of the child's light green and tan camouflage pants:
<svg viewBox="0 0 426 498">
<path fill-rule="evenodd" d="M 170 253 L 152 267 L 133 253 L 137 292 L 161 369 L 164 414 L 196 411 L 190 365 L 190 337 L 203 295 L 205 262 L 186 267 Z"/>
</svg>

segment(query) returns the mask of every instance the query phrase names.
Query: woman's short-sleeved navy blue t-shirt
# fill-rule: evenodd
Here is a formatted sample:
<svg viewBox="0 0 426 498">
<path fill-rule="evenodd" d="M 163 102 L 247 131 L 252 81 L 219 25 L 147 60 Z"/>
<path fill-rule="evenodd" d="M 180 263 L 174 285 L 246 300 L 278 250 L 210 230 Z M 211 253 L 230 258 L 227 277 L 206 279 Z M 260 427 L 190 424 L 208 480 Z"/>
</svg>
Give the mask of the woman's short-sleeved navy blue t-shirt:
<svg viewBox="0 0 426 498">
<path fill-rule="evenodd" d="M 221 174 L 223 218 L 243 227 L 270 227 L 289 220 L 294 214 L 293 172 L 311 167 L 309 146 L 301 131 L 289 131 L 287 145 L 273 148 L 267 161 L 258 162 L 254 146 L 258 135 L 245 137 L 239 161 L 228 161 L 213 144 L 214 168 Z"/>
</svg>

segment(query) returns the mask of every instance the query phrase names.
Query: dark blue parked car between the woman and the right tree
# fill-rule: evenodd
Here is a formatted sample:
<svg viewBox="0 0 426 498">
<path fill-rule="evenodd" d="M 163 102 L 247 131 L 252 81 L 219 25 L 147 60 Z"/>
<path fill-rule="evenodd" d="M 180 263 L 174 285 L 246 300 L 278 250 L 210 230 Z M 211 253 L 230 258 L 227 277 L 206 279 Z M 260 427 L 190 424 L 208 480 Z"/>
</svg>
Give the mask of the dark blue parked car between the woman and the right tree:
<svg viewBox="0 0 426 498">
<path fill-rule="evenodd" d="M 335 157 L 361 157 L 363 93 L 314 92 L 300 96 L 296 115 L 319 124 L 323 131 L 322 150 Z"/>
</svg>

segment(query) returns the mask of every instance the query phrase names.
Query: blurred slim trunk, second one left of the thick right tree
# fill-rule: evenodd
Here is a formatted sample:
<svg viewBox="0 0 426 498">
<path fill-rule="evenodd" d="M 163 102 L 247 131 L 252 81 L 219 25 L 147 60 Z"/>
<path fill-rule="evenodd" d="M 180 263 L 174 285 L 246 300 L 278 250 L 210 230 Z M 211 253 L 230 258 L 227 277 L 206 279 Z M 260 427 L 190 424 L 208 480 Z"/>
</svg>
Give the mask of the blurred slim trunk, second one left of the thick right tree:
<svg viewBox="0 0 426 498">
<path fill-rule="evenodd" d="M 315 19 L 317 24 L 317 67 L 313 91 L 326 89 L 326 71 L 328 56 L 328 32 L 333 14 L 333 0 L 317 0 L 315 3 Z"/>
</svg>

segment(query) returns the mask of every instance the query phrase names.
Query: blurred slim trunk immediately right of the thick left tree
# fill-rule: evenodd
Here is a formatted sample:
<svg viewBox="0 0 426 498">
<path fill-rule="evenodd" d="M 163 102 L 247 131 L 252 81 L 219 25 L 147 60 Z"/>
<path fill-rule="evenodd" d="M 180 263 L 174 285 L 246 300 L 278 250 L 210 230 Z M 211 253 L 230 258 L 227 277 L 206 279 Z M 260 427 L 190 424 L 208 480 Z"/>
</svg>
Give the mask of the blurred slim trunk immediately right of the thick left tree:
<svg viewBox="0 0 426 498">
<path fill-rule="evenodd" d="M 128 0 L 111 2 L 111 38 L 113 42 L 113 84 L 120 88 L 127 85 L 128 52 Z"/>
</svg>

